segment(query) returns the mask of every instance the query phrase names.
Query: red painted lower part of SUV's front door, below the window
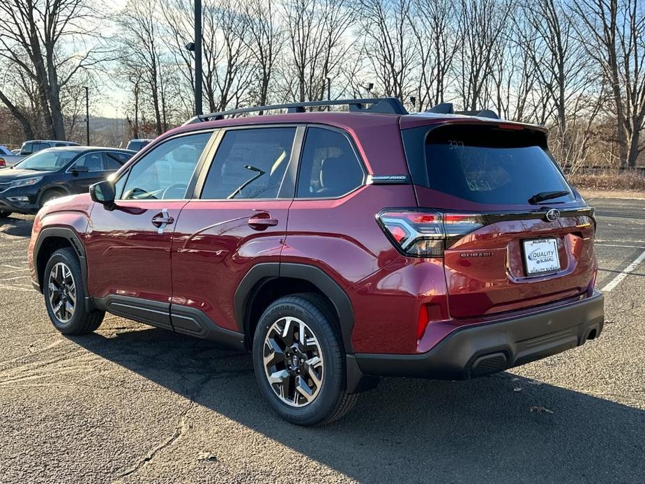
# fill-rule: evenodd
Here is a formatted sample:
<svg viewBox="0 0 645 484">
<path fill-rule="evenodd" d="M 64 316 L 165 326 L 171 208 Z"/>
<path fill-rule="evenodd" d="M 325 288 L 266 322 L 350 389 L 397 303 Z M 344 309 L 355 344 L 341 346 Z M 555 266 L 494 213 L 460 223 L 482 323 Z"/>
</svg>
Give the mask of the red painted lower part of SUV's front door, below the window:
<svg viewBox="0 0 645 484">
<path fill-rule="evenodd" d="M 119 201 L 109 211 L 96 205 L 86 235 L 88 289 L 93 297 L 120 294 L 170 302 L 170 248 L 185 201 Z M 167 210 L 170 224 L 153 218 Z"/>
</svg>

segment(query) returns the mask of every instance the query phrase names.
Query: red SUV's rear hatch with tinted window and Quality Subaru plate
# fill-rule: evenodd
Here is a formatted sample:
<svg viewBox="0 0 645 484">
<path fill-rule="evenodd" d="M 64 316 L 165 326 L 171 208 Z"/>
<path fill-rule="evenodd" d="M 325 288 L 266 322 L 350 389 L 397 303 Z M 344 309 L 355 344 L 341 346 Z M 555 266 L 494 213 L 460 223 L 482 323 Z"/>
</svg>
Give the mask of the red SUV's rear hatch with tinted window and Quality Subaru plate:
<svg viewBox="0 0 645 484">
<path fill-rule="evenodd" d="M 453 317 L 575 300 L 593 288 L 593 209 L 568 186 L 544 131 L 448 123 L 402 133 L 426 214 L 408 226 L 443 237 Z"/>
</svg>

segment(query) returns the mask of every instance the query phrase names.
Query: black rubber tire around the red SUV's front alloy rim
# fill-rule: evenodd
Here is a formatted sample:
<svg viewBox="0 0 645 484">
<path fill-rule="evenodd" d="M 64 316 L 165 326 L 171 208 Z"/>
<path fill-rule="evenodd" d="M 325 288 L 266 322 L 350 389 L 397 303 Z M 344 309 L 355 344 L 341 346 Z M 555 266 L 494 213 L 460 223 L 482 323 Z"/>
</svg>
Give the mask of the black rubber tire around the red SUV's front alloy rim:
<svg viewBox="0 0 645 484">
<path fill-rule="evenodd" d="M 54 312 L 54 303 L 56 303 L 56 301 L 61 301 L 60 296 L 56 297 L 56 294 L 59 294 L 59 292 L 56 292 L 55 290 L 52 291 L 52 289 L 50 289 L 50 275 L 52 274 L 52 269 L 54 269 L 54 266 L 56 266 L 56 264 L 63 264 L 63 266 L 66 266 L 68 268 L 75 289 L 76 301 L 74 304 L 73 313 L 66 322 L 61 321 L 61 319 L 59 319 L 59 316 Z M 59 268 L 61 268 L 61 266 L 59 266 Z M 56 252 L 52 254 L 52 257 L 50 257 L 50 260 L 47 261 L 47 266 L 45 266 L 45 273 L 43 274 L 43 294 L 45 295 L 45 306 L 47 308 L 47 314 L 50 316 L 52 324 L 54 324 L 54 327 L 64 335 L 82 335 L 91 333 L 92 331 L 96 330 L 98 326 L 100 326 L 101 322 L 103 322 L 105 311 L 86 310 L 86 289 L 83 285 L 81 264 L 78 260 L 78 257 L 76 256 L 76 253 L 71 248 L 56 250 Z M 53 302 L 52 294 L 54 294 Z"/>
</svg>

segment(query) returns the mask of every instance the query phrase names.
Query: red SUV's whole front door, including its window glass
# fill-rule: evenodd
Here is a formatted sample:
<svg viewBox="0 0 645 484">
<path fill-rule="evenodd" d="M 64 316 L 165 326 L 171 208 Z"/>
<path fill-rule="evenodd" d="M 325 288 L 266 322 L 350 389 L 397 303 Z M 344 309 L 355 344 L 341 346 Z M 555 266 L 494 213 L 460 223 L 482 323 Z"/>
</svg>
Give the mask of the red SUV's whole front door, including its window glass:
<svg viewBox="0 0 645 484">
<path fill-rule="evenodd" d="M 159 142 L 116 182 L 116 208 L 95 206 L 86 242 L 91 296 L 144 298 L 169 310 L 172 234 L 211 135 Z"/>
</svg>

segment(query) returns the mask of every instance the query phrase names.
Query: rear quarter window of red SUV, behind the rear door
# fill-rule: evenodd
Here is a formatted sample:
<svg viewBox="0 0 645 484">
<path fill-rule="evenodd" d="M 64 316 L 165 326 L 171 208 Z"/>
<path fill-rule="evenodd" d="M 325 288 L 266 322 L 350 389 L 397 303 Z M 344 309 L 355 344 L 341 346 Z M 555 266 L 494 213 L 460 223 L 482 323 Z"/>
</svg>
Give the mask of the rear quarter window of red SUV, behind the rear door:
<svg viewBox="0 0 645 484">
<path fill-rule="evenodd" d="M 365 173 L 346 136 L 308 128 L 298 174 L 298 198 L 340 197 L 361 186 Z"/>
</svg>

